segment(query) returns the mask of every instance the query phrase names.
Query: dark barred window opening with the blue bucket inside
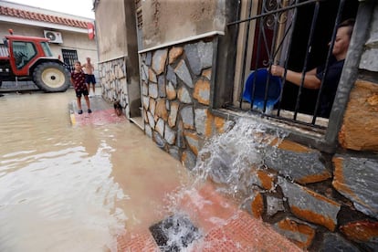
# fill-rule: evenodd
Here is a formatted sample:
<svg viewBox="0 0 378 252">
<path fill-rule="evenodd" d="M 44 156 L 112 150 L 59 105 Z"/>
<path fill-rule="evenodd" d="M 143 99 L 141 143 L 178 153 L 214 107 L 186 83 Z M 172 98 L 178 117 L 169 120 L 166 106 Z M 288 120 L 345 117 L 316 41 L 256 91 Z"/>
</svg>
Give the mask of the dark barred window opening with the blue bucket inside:
<svg viewBox="0 0 378 252">
<path fill-rule="evenodd" d="M 230 109 L 251 110 L 267 117 L 326 129 L 328 115 L 320 116 L 320 107 L 325 95 L 324 80 L 334 60 L 334 38 L 341 21 L 356 15 L 358 1 L 250 0 L 240 3 L 247 7 L 247 15 L 241 14 L 240 20 L 228 24 L 244 34 L 244 45 L 240 49 L 244 51 L 242 64 L 239 68 L 236 66 L 239 77 L 236 76 L 238 83 L 235 83 L 236 93 Z M 272 65 L 283 67 L 283 76 L 268 74 Z M 306 72 L 318 66 L 324 66 L 320 88 L 305 88 Z M 299 86 L 286 80 L 288 69 L 301 73 Z"/>
</svg>

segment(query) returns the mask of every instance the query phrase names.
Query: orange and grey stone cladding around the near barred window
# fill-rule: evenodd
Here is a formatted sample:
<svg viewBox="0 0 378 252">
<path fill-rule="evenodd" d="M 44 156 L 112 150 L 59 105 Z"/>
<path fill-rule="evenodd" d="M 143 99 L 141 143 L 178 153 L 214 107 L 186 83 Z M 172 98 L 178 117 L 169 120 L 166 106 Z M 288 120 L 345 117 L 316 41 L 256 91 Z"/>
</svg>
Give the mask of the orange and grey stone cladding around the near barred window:
<svg viewBox="0 0 378 252">
<path fill-rule="evenodd" d="M 141 55 L 145 133 L 188 169 L 194 167 L 205 140 L 226 131 L 226 120 L 209 110 L 213 42 L 206 41 Z M 377 123 L 362 123 L 366 117 L 378 122 L 374 85 L 366 90 L 366 83 L 358 81 L 352 91 L 341 131 L 344 150 L 378 152 Z M 363 118 L 357 109 L 362 104 Z M 363 125 L 363 131 L 356 125 Z M 352 141 L 358 129 L 361 138 Z M 266 157 L 266 169 L 251 169 L 256 177 L 243 207 L 303 249 L 377 250 L 378 162 L 374 154 L 362 156 L 342 149 L 324 154 L 284 140 Z"/>
</svg>

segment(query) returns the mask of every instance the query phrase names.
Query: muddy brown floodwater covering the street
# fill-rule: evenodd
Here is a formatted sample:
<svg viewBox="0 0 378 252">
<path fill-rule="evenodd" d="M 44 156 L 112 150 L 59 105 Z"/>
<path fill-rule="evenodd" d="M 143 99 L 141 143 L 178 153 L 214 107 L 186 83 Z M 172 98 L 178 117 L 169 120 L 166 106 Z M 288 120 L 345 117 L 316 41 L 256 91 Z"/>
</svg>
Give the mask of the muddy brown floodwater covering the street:
<svg viewBox="0 0 378 252">
<path fill-rule="evenodd" d="M 115 251 L 163 217 L 181 163 L 128 121 L 72 127 L 65 93 L 0 98 L 0 251 Z"/>
</svg>

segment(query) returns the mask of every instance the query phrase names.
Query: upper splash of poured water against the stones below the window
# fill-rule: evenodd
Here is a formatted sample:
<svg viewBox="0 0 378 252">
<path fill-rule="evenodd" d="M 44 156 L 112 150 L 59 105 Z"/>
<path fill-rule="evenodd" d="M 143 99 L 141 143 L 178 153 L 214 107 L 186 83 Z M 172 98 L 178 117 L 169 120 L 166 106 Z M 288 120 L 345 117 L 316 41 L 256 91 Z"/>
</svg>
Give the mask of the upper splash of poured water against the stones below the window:
<svg viewBox="0 0 378 252">
<path fill-rule="evenodd" d="M 256 171 L 265 169 L 265 158 L 284 137 L 282 131 L 241 118 L 205 144 L 198 154 L 194 176 L 201 181 L 211 179 L 226 194 L 247 195 L 256 184 Z"/>
</svg>

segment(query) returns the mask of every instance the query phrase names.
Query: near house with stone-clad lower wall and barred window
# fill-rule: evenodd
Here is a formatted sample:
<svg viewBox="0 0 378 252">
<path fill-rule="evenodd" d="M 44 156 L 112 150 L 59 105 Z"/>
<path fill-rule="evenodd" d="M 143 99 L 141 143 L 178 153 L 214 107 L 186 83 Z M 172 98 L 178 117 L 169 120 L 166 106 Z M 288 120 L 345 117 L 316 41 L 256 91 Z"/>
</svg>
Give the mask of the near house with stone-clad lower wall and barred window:
<svg viewBox="0 0 378 252">
<path fill-rule="evenodd" d="M 201 151 L 211 138 L 247 118 L 265 145 L 258 145 L 259 162 L 246 159 L 248 172 L 238 177 L 250 178 L 246 211 L 303 249 L 378 248 L 376 1 L 94 5 L 103 96 L 120 100 L 160 148 L 192 170 L 208 158 Z M 321 88 L 281 83 L 270 104 L 268 79 L 260 103 L 245 99 L 247 79 L 260 68 L 281 64 L 305 72 L 331 60 L 337 25 L 349 18 L 352 40 L 328 118 L 317 114 Z M 226 145 L 210 163 L 220 171 L 210 176 L 215 183 L 232 186 L 237 152 Z"/>
</svg>

